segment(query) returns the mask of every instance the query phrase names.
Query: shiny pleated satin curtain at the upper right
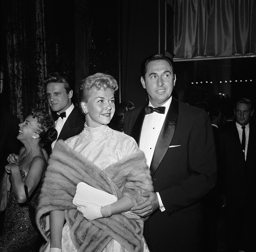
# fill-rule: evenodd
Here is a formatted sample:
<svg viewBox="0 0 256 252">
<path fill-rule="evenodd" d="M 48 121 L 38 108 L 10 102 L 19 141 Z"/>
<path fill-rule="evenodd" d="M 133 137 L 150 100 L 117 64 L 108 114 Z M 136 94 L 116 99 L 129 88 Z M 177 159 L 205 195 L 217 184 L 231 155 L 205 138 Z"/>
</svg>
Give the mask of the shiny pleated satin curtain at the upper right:
<svg viewBox="0 0 256 252">
<path fill-rule="evenodd" d="M 254 0 L 175 0 L 176 58 L 256 54 Z"/>
</svg>

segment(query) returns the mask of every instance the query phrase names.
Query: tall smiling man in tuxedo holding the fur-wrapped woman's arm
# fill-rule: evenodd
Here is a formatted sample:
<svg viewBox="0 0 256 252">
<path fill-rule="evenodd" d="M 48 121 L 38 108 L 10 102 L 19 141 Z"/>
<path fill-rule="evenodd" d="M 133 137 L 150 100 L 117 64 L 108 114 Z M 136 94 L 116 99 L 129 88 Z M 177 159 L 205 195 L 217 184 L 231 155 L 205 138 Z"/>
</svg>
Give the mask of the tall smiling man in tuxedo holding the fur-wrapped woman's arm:
<svg viewBox="0 0 256 252">
<path fill-rule="evenodd" d="M 202 197 L 215 186 L 216 154 L 207 112 L 172 97 L 173 61 L 161 54 L 141 65 L 148 106 L 125 114 L 124 133 L 144 151 L 154 192 L 131 209 L 149 216 L 144 236 L 151 252 L 201 251 Z"/>
</svg>

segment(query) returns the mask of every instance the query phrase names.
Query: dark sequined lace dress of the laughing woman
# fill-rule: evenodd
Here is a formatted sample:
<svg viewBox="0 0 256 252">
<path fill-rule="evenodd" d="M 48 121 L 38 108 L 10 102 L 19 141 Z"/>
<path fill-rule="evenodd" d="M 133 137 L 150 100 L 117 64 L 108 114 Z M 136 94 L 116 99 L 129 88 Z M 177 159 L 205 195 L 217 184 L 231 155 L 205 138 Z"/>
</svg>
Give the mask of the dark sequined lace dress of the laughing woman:
<svg viewBox="0 0 256 252">
<path fill-rule="evenodd" d="M 20 171 L 23 180 L 25 180 L 24 171 Z M 0 237 L 0 251 L 2 252 L 29 252 L 35 251 L 36 241 L 39 237 L 37 229 L 32 225 L 28 207 L 26 203 L 19 204 L 12 188 L 12 177 L 9 176 L 11 183 L 8 203 L 5 210 L 4 228 Z M 30 203 L 37 205 L 37 199 L 40 193 L 41 183 L 35 189 L 30 197 Z"/>
</svg>

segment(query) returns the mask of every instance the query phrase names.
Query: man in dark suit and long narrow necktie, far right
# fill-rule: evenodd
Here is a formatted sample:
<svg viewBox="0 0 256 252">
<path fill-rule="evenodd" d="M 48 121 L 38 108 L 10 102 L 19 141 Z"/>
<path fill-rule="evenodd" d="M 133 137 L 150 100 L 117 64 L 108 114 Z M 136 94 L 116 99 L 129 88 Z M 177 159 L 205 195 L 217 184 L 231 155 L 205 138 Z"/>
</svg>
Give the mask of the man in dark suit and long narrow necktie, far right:
<svg viewBox="0 0 256 252">
<path fill-rule="evenodd" d="M 234 108 L 236 122 L 219 133 L 228 252 L 255 250 L 256 125 L 250 120 L 253 111 L 250 99 L 238 99 Z"/>
</svg>

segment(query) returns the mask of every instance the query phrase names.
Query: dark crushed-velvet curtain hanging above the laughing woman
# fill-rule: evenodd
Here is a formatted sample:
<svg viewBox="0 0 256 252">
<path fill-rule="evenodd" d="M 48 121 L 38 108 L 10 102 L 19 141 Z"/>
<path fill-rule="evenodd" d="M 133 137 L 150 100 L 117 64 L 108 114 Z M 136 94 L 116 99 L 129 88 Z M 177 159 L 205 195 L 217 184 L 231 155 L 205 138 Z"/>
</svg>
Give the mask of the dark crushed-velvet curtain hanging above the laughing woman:
<svg viewBox="0 0 256 252">
<path fill-rule="evenodd" d="M 1 106 L 23 121 L 34 107 L 49 111 L 44 86 L 49 73 L 73 77 L 74 3 L 4 0 L 1 7 L 1 33 L 6 34 L 1 45 L 6 72 Z"/>
</svg>

